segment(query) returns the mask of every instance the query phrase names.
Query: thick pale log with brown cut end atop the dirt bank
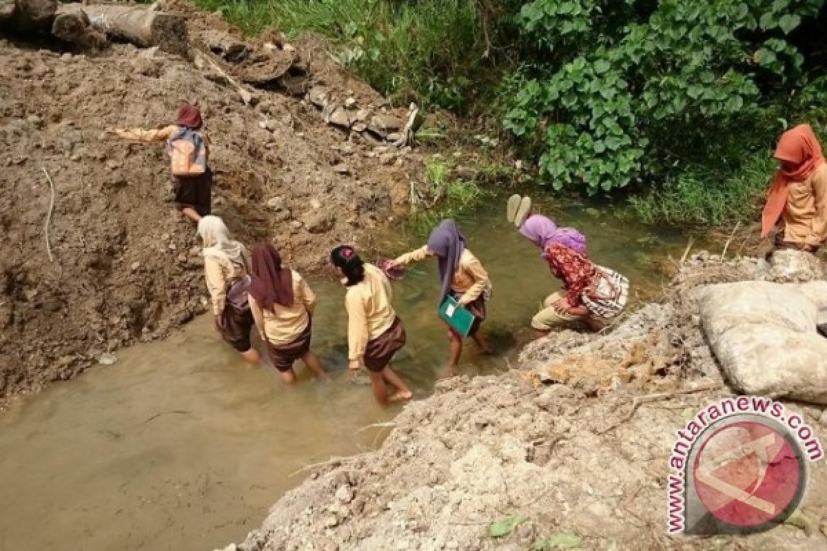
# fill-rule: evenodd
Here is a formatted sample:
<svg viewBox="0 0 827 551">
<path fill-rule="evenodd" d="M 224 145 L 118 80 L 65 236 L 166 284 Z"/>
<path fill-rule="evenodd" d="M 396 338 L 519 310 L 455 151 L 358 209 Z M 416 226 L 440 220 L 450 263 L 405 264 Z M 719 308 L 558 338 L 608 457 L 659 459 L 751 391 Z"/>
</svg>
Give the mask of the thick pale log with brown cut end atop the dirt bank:
<svg viewBox="0 0 827 551">
<path fill-rule="evenodd" d="M 26 0 L 31 2 L 34 0 Z M 45 0 L 39 0 L 45 1 Z M 146 7 L 108 6 L 99 4 L 63 4 L 60 12 L 86 12 L 91 26 L 115 40 L 177 54 L 189 59 L 189 40 L 184 16 L 155 12 Z"/>
</svg>

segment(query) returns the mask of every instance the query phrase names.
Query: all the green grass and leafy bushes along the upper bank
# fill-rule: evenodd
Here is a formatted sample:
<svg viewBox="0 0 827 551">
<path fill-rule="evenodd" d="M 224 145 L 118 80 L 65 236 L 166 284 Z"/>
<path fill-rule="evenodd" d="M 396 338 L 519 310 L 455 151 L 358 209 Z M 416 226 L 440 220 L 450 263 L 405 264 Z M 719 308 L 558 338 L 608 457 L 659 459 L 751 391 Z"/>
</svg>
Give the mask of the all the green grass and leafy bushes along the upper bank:
<svg viewBox="0 0 827 551">
<path fill-rule="evenodd" d="M 321 33 L 397 105 L 484 115 L 496 139 L 463 143 L 508 145 L 548 192 L 624 199 L 645 221 L 754 217 L 778 135 L 827 123 L 825 0 L 197 2 L 246 32 Z M 468 205 L 503 166 L 438 185 Z"/>
</svg>

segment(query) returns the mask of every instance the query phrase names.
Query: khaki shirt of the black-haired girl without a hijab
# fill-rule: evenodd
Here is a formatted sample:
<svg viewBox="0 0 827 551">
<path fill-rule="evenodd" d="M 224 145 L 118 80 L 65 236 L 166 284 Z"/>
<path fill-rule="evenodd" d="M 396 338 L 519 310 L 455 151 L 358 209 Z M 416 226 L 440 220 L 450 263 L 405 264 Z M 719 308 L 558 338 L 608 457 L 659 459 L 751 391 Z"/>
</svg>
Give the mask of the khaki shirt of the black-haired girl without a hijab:
<svg viewBox="0 0 827 551">
<path fill-rule="evenodd" d="M 374 340 L 390 329 L 396 320 L 396 311 L 390 305 L 393 291 L 382 270 L 365 264 L 365 279 L 347 287 L 347 359 L 362 359 L 369 340 Z"/>
</svg>

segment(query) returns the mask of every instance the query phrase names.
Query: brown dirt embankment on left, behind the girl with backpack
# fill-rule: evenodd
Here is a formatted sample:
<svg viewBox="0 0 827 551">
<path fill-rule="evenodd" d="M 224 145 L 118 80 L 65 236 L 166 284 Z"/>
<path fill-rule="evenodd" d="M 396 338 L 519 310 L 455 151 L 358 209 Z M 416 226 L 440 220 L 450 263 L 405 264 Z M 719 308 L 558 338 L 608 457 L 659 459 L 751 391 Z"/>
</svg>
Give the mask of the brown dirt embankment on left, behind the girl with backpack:
<svg viewBox="0 0 827 551">
<path fill-rule="evenodd" d="M 189 11 L 191 37 L 227 31 L 184 3 L 167 9 Z M 306 70 L 299 89 L 386 108 L 320 40 L 295 49 Z M 256 90 L 253 107 L 209 67 L 157 49 L 87 56 L 0 40 L 0 401 L 205 311 L 198 240 L 170 202 L 163 145 L 127 143 L 107 127 L 164 126 L 182 102 L 198 102 L 214 213 L 247 243 L 274 240 L 296 268 L 318 268 L 337 243 L 365 245 L 371 228 L 406 208 L 418 155 L 327 124 L 293 84 L 291 93 Z M 43 169 L 55 183 L 52 260 Z"/>
</svg>

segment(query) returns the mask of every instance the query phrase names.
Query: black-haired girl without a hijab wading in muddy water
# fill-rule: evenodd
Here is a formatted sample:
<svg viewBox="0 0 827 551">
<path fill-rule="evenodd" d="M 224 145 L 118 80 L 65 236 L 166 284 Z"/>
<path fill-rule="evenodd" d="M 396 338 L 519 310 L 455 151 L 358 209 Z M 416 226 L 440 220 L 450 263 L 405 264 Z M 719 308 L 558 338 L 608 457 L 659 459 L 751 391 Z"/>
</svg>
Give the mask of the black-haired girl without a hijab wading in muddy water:
<svg viewBox="0 0 827 551">
<path fill-rule="evenodd" d="M 390 281 L 379 268 L 362 262 L 350 246 L 338 246 L 330 258 L 347 287 L 347 367 L 354 373 L 362 365 L 367 368 L 380 404 L 409 399 L 413 393 L 390 368 L 394 354 L 405 344 L 404 326 L 390 304 Z M 394 387 L 390 395 L 387 384 Z"/>
</svg>

